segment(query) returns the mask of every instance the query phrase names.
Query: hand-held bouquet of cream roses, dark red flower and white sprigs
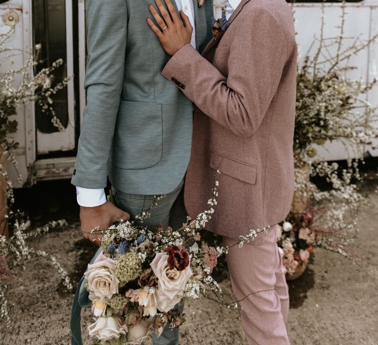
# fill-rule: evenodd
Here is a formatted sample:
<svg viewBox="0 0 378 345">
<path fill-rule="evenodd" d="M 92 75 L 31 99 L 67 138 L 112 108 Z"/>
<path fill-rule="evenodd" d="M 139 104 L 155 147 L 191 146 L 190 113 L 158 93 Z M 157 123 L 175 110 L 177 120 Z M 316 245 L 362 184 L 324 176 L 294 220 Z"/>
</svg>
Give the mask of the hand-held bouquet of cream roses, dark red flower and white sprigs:
<svg viewBox="0 0 378 345">
<path fill-rule="evenodd" d="M 158 335 L 166 325 L 179 327 L 185 319 L 175 306 L 185 299 L 209 292 L 221 299 L 211 274 L 224 248 L 199 244 L 198 233 L 214 212 L 218 185 L 209 209 L 179 230 L 142 226 L 155 200 L 134 222 L 92 231 L 102 236 L 102 251 L 85 273 L 95 316 L 88 330 L 95 344 L 140 344 L 152 327 Z"/>
</svg>

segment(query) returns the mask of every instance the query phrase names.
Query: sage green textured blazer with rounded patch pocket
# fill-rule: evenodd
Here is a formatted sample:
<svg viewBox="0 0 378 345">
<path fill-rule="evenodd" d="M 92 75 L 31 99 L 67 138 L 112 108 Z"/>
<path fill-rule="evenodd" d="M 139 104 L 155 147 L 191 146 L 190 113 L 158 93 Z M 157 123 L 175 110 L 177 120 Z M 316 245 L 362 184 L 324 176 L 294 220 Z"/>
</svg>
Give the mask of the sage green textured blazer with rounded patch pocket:
<svg viewBox="0 0 378 345">
<path fill-rule="evenodd" d="M 211 39 L 213 1 L 194 5 L 197 50 Z M 172 3 L 176 6 L 175 1 Z M 154 0 L 86 0 L 87 104 L 71 182 L 166 194 L 187 170 L 192 103 L 161 71 L 170 57 L 146 23 Z"/>
</svg>

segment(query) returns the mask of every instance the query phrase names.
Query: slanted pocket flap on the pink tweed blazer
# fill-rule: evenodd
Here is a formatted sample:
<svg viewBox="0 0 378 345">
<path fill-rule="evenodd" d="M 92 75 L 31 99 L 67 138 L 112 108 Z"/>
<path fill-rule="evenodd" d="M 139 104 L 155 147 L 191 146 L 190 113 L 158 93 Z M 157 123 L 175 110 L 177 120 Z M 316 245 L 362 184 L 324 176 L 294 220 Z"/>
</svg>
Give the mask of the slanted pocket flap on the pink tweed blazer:
<svg viewBox="0 0 378 345">
<path fill-rule="evenodd" d="M 214 152 L 211 152 L 210 155 L 210 168 L 250 184 L 256 183 L 257 169 L 255 166 L 234 161 Z"/>
</svg>

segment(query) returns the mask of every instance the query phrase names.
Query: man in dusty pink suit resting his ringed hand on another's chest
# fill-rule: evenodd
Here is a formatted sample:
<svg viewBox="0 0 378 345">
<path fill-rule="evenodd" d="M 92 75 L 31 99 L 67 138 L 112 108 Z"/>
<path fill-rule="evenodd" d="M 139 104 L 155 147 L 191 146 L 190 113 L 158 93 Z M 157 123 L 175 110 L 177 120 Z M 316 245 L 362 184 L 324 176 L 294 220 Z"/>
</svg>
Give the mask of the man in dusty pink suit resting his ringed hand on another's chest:
<svg viewBox="0 0 378 345">
<path fill-rule="evenodd" d="M 238 5 L 228 24 L 200 55 L 187 41 L 189 21 L 180 12 L 182 24 L 165 2 L 172 19 L 156 0 L 161 15 L 151 6 L 155 22 L 147 21 L 172 56 L 162 75 L 195 104 L 185 206 L 190 216 L 206 209 L 219 170 L 218 205 L 207 230 L 221 234 L 225 245 L 251 229 L 258 233 L 227 254 L 235 297 L 244 299 L 249 344 L 289 344 L 276 237 L 294 191 L 297 45 L 291 10 L 284 0 L 232 1 Z"/>
</svg>

